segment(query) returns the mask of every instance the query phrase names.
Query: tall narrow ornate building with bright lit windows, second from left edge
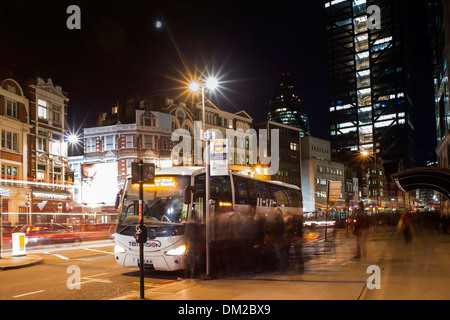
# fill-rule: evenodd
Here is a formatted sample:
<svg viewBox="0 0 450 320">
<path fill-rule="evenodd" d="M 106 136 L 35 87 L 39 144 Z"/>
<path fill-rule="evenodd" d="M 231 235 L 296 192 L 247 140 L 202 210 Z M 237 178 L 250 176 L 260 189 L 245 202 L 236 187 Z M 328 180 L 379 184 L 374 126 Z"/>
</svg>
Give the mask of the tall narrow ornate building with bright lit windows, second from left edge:
<svg viewBox="0 0 450 320">
<path fill-rule="evenodd" d="M 24 83 L 29 100 L 31 125 L 28 136 L 28 179 L 37 182 L 31 189 L 33 222 L 46 222 L 41 213 L 70 212 L 71 191 L 65 188 L 69 172 L 67 154 L 68 95 L 51 78 L 37 77 Z"/>
</svg>

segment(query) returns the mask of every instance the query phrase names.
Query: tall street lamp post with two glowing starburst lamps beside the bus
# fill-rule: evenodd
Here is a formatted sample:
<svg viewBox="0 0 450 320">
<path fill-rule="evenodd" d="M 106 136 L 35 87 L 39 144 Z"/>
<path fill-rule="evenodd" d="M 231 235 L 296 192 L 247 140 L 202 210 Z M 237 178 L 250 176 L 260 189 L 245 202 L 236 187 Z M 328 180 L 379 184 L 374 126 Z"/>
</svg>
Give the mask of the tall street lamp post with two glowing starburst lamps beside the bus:
<svg viewBox="0 0 450 320">
<path fill-rule="evenodd" d="M 200 85 L 198 82 L 191 82 L 189 84 L 189 89 L 193 92 L 199 91 L 201 89 L 202 92 L 202 120 L 203 120 L 203 139 L 205 140 L 205 206 L 206 206 L 206 218 L 205 218 L 205 227 L 206 227 L 206 279 L 211 279 L 211 168 L 210 168 L 210 140 L 211 140 L 211 132 L 205 130 L 206 121 L 205 121 L 205 86 L 214 90 L 217 87 L 217 80 L 213 77 L 210 77 L 206 80 L 206 82 Z"/>
</svg>

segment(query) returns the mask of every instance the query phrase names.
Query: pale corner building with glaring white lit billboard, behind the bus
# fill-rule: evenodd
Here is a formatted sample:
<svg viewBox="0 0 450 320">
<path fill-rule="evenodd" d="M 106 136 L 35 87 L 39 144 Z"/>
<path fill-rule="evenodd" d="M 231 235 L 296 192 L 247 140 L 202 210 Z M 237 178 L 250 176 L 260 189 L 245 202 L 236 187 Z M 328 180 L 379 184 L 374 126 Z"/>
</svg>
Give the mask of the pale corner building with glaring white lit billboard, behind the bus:
<svg viewBox="0 0 450 320">
<path fill-rule="evenodd" d="M 131 101 L 129 101 L 131 102 Z M 123 109 L 127 109 L 123 105 Z M 100 125 L 85 128 L 83 155 L 69 157 L 77 186 L 75 200 L 84 211 L 99 209 L 114 211 L 116 195 L 131 175 L 133 162 L 143 160 L 156 168 L 171 167 L 171 116 L 149 110 L 133 110 L 134 117 L 123 118 L 114 124 L 120 106 L 110 114 L 102 113 Z"/>
</svg>

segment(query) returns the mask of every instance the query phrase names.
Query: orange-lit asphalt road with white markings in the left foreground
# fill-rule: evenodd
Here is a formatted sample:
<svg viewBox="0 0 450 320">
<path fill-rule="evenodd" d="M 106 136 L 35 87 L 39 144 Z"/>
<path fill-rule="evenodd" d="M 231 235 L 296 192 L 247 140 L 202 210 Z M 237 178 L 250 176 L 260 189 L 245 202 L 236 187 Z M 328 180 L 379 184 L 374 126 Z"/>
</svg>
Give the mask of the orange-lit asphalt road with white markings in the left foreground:
<svg viewBox="0 0 450 320">
<path fill-rule="evenodd" d="M 307 229 L 305 260 L 323 254 L 323 228 Z M 331 233 L 332 230 L 329 230 Z M 3 256 L 11 250 L 3 250 Z M 139 291 L 139 269 L 124 268 L 114 259 L 114 241 L 28 247 L 28 255 L 43 262 L 0 271 L 0 300 L 108 300 Z M 295 251 L 291 250 L 295 260 Z M 145 272 L 146 289 L 182 280 L 184 272 Z"/>
</svg>

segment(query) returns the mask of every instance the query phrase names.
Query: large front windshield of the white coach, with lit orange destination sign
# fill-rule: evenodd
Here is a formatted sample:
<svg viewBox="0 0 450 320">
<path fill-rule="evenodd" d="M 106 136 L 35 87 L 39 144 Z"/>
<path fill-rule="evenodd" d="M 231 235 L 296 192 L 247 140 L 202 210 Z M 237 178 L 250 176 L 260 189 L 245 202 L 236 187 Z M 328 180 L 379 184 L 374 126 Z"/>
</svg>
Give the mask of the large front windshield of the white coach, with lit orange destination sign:
<svg viewBox="0 0 450 320">
<path fill-rule="evenodd" d="M 155 184 L 144 184 L 143 218 L 145 224 L 172 224 L 186 221 L 187 205 L 183 190 L 190 184 L 190 176 L 156 176 Z M 139 222 L 139 184 L 128 180 L 123 194 L 119 224 Z"/>
</svg>

